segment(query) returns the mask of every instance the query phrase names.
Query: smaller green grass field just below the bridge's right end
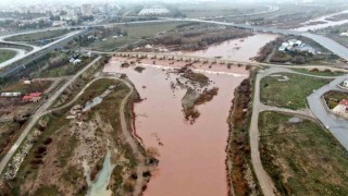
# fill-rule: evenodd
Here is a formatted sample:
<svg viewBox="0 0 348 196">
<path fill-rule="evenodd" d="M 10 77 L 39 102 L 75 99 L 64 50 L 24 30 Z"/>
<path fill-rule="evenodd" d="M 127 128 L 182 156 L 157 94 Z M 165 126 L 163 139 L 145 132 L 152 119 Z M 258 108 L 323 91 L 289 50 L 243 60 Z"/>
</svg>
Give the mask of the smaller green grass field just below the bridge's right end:
<svg viewBox="0 0 348 196">
<path fill-rule="evenodd" d="M 330 82 L 330 79 L 289 73 L 279 73 L 279 75 L 287 76 L 289 81 L 279 82 L 278 79 L 283 77 L 271 76 L 261 81 L 261 101 L 269 106 L 293 110 L 306 108 L 306 98 Z"/>
</svg>

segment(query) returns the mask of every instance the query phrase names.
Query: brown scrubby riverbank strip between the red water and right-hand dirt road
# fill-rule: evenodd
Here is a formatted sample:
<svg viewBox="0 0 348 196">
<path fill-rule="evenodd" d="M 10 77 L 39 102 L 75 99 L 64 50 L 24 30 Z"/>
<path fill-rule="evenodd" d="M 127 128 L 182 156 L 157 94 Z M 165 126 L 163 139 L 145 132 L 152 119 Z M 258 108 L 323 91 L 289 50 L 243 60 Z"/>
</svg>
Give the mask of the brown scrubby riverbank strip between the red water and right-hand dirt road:
<svg viewBox="0 0 348 196">
<path fill-rule="evenodd" d="M 253 74 L 235 89 L 227 123 L 227 183 L 229 195 L 261 195 L 251 164 L 249 124 L 251 119 Z"/>
</svg>

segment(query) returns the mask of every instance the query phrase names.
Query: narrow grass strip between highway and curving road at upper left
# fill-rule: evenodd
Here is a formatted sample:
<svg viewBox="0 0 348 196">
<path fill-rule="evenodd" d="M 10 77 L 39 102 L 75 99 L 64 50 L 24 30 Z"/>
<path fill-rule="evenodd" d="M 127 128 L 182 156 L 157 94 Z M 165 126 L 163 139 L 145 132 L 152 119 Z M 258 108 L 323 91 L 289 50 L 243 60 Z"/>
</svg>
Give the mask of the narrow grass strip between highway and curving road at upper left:
<svg viewBox="0 0 348 196">
<path fill-rule="evenodd" d="M 67 34 L 69 29 L 57 29 L 57 30 L 47 30 L 47 32 L 38 32 L 32 34 L 16 35 L 13 37 L 9 37 L 5 40 L 9 41 L 38 41 L 45 39 L 52 39 L 55 37 L 60 37 L 64 34 Z"/>
</svg>

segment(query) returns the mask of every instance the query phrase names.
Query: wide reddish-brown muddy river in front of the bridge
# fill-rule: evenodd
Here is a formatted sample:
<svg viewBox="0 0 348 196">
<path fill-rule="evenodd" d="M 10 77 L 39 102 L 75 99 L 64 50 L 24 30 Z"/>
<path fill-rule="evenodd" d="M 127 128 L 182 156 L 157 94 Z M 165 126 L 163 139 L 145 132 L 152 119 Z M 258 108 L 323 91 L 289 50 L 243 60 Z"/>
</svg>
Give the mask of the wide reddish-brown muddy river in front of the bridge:
<svg viewBox="0 0 348 196">
<path fill-rule="evenodd" d="M 200 117 L 194 124 L 182 111 L 186 89 L 171 88 L 177 75 L 167 66 L 140 65 L 121 68 L 113 58 L 104 66 L 107 73 L 125 73 L 134 83 L 144 101 L 136 103 L 136 132 L 146 148 L 156 148 L 160 160 L 145 195 L 148 196 L 215 196 L 226 195 L 226 119 L 235 88 L 248 76 L 244 66 L 229 70 L 237 74 L 206 73 L 217 96 L 198 107 Z M 204 72 L 204 70 L 201 70 Z M 169 74 L 167 74 L 169 73 Z"/>
</svg>

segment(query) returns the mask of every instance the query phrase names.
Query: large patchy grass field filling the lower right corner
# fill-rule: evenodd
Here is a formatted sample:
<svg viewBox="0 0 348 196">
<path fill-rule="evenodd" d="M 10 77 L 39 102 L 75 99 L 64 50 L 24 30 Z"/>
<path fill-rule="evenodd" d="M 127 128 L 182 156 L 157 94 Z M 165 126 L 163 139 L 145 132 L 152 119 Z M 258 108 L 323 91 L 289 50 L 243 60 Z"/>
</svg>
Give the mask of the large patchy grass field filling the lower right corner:
<svg viewBox="0 0 348 196">
<path fill-rule="evenodd" d="M 281 195 L 347 195 L 347 151 L 319 124 L 263 112 L 260 154 Z"/>
</svg>

